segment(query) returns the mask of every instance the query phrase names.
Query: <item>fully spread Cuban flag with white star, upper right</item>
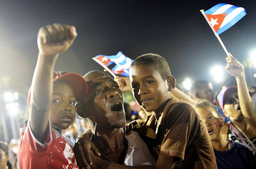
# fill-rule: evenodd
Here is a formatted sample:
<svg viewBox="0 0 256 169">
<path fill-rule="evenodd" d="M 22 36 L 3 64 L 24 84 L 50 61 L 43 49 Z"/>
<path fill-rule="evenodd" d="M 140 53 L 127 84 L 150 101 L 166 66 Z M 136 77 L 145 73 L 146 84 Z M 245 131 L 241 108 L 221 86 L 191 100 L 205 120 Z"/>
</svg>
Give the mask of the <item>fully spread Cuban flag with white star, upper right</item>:
<svg viewBox="0 0 256 169">
<path fill-rule="evenodd" d="M 204 12 L 218 35 L 226 31 L 246 15 L 242 7 L 218 3 Z"/>
</svg>

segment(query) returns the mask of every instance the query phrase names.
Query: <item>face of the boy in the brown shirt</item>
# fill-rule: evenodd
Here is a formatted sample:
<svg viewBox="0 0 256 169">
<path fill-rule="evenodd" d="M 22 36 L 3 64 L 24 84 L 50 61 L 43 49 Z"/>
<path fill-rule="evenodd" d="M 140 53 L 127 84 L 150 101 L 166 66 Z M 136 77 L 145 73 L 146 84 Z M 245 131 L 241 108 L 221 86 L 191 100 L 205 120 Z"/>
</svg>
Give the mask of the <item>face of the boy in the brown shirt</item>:
<svg viewBox="0 0 256 169">
<path fill-rule="evenodd" d="M 157 112 L 171 98 L 167 80 L 163 80 L 160 73 L 151 66 L 130 67 L 130 81 L 135 100 L 147 112 Z"/>
</svg>

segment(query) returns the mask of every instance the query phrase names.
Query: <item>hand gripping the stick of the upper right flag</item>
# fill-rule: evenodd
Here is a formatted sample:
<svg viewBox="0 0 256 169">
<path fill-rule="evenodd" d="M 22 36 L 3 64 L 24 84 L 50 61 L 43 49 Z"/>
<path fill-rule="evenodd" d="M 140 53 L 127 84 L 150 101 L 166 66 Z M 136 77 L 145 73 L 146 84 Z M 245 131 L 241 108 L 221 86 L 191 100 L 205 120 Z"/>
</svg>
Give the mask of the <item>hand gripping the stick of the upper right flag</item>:
<svg viewBox="0 0 256 169">
<path fill-rule="evenodd" d="M 236 58 L 229 53 L 229 56 L 226 57 L 227 64 L 225 66 L 225 70 L 228 71 L 229 74 L 233 75 L 236 78 L 242 77 L 245 75 L 245 68 Z"/>
</svg>

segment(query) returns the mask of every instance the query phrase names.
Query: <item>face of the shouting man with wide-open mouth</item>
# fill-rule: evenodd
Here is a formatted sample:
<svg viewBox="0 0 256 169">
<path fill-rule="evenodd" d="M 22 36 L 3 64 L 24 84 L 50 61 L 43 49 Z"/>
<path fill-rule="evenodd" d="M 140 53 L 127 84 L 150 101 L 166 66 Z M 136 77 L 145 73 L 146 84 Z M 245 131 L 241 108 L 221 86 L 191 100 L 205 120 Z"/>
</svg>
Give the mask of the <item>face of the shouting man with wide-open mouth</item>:
<svg viewBox="0 0 256 169">
<path fill-rule="evenodd" d="M 89 119 L 109 128 L 122 128 L 126 122 L 124 99 L 117 82 L 101 72 L 91 74 L 86 81 L 89 91 L 85 104 L 90 111 Z"/>
</svg>

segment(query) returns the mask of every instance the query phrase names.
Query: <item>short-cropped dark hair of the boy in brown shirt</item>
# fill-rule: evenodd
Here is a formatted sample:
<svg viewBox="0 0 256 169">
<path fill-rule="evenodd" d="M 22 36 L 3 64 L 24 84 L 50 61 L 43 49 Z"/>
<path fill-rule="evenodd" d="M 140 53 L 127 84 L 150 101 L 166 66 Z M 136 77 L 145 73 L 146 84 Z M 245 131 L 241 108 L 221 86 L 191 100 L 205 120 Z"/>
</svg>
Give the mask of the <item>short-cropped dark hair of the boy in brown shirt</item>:
<svg viewBox="0 0 256 169">
<path fill-rule="evenodd" d="M 163 58 L 159 54 L 154 54 L 154 53 L 142 54 L 141 56 L 135 58 L 135 60 L 131 64 L 131 67 L 139 66 L 139 65 L 152 66 L 156 71 L 160 73 L 161 77 L 164 80 L 168 79 L 172 75 L 168 62 L 166 61 L 165 58 Z"/>
</svg>

